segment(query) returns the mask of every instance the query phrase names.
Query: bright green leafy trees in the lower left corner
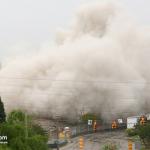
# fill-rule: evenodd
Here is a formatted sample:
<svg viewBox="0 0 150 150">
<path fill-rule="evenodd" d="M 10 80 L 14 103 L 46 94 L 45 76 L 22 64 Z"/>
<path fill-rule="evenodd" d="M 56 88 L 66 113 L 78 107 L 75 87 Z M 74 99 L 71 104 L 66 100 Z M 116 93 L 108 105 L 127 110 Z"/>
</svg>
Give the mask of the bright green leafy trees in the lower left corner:
<svg viewBox="0 0 150 150">
<path fill-rule="evenodd" d="M 48 137 L 44 130 L 20 110 L 12 111 L 8 115 L 7 122 L 0 126 L 0 135 L 7 135 L 7 146 L 11 150 L 47 150 Z"/>
</svg>

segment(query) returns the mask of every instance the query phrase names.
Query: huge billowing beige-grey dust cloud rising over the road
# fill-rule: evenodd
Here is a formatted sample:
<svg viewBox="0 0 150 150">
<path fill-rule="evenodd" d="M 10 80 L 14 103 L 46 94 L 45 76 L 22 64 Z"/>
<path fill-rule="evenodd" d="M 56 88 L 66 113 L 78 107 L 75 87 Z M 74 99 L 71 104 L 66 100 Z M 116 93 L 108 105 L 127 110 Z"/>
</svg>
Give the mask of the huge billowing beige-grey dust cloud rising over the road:
<svg viewBox="0 0 150 150">
<path fill-rule="evenodd" d="M 150 32 L 115 3 L 81 7 L 56 43 L 2 66 L 7 111 L 71 118 L 84 108 L 109 119 L 150 108 Z"/>
</svg>

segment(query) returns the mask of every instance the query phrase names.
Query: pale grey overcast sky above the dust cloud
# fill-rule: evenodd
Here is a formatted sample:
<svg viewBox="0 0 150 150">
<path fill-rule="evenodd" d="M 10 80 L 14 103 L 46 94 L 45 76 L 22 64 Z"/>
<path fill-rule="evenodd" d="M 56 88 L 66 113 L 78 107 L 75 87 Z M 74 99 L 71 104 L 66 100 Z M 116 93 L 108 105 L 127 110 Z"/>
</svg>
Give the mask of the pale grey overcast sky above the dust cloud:
<svg viewBox="0 0 150 150">
<path fill-rule="evenodd" d="M 94 0 L 0 0 L 0 61 L 33 53 L 67 28 L 75 10 Z M 99 0 L 102 1 L 102 0 Z M 116 0 L 138 23 L 150 25 L 150 0 Z"/>
</svg>

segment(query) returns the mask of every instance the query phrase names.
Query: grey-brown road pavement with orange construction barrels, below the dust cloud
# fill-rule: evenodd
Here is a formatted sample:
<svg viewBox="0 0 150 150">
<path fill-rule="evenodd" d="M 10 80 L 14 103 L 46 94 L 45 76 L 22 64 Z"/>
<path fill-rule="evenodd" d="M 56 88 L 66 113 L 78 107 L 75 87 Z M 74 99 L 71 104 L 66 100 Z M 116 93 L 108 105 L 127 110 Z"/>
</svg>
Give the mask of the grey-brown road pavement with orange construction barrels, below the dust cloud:
<svg viewBox="0 0 150 150">
<path fill-rule="evenodd" d="M 84 150 L 103 150 L 104 145 L 108 143 L 116 144 L 119 150 L 128 149 L 128 137 L 123 131 L 88 134 L 84 135 L 83 139 Z M 79 137 L 73 138 L 72 143 L 60 150 L 79 150 Z"/>
</svg>

